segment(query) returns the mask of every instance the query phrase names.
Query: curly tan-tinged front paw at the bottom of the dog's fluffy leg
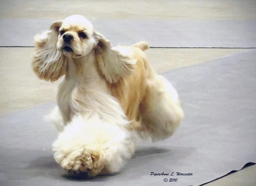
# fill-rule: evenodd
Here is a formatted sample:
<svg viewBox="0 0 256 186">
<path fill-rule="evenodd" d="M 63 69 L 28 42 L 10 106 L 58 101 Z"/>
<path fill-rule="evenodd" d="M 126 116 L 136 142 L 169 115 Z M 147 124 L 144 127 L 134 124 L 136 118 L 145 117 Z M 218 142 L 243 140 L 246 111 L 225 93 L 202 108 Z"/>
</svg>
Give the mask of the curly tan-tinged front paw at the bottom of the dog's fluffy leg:
<svg viewBox="0 0 256 186">
<path fill-rule="evenodd" d="M 104 160 L 99 152 L 86 149 L 85 146 L 74 149 L 70 154 L 54 154 L 56 162 L 72 175 L 86 173 L 89 177 L 98 175 L 104 168 Z"/>
</svg>

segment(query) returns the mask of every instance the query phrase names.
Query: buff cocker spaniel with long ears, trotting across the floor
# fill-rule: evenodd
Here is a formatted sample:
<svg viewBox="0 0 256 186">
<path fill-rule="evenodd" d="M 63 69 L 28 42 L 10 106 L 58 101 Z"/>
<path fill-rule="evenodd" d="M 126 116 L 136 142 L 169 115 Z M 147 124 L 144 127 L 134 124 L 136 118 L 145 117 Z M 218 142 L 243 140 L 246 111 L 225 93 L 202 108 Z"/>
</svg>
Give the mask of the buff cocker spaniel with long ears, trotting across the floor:
<svg viewBox="0 0 256 186">
<path fill-rule="evenodd" d="M 35 36 L 32 68 L 59 85 L 47 117 L 59 136 L 54 158 L 72 174 L 117 173 L 135 149 L 134 133 L 152 141 L 171 136 L 182 118 L 173 86 L 147 62 L 141 41 L 116 46 L 80 15 L 55 21 Z"/>
</svg>

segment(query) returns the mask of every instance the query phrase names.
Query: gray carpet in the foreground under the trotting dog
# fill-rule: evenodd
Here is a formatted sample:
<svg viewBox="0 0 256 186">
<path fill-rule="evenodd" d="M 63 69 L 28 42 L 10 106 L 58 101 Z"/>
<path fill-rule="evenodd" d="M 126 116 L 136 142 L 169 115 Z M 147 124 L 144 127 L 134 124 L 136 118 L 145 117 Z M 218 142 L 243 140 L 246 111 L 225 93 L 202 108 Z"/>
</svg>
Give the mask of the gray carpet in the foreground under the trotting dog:
<svg viewBox="0 0 256 186">
<path fill-rule="evenodd" d="M 256 163 L 255 59 L 256 50 L 163 74 L 177 88 L 185 118 L 165 141 L 138 140 L 132 159 L 116 175 L 86 180 L 61 170 L 51 151 L 57 132 L 43 121 L 54 103 L 3 115 L 0 185 L 199 185 Z"/>
</svg>

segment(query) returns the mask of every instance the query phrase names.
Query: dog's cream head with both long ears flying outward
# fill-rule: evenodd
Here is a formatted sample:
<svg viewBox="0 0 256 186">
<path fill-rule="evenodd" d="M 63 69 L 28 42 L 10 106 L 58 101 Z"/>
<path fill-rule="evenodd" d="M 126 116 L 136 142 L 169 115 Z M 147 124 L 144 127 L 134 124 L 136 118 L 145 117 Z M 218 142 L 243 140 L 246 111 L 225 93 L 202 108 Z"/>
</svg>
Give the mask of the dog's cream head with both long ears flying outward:
<svg viewBox="0 0 256 186">
<path fill-rule="evenodd" d="M 131 50 L 113 47 L 80 15 L 53 22 L 48 31 L 35 36 L 35 48 L 33 70 L 40 79 L 48 81 L 56 81 L 67 73 L 70 57 L 81 58 L 92 50 L 100 74 L 110 83 L 129 74 L 136 63 Z"/>
</svg>

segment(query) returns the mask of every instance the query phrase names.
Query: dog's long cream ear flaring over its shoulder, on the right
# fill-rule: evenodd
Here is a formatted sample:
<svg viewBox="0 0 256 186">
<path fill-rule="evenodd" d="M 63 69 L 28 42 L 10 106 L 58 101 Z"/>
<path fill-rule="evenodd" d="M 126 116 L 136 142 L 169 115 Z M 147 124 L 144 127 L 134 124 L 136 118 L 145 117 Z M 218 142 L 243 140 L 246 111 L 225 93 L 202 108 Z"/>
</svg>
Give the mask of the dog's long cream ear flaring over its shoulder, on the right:
<svg viewBox="0 0 256 186">
<path fill-rule="evenodd" d="M 99 32 L 95 31 L 98 44 L 95 47 L 99 71 L 109 83 L 117 82 L 120 77 L 131 74 L 136 59 L 128 48 L 113 47 Z"/>
</svg>

